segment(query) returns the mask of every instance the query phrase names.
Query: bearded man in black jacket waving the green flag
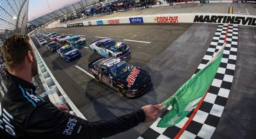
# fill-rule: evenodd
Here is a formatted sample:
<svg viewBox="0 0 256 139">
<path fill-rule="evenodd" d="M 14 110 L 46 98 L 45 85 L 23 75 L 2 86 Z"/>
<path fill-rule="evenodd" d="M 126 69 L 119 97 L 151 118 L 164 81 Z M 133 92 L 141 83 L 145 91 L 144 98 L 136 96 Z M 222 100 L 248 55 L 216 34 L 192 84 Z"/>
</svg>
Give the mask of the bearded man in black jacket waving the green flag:
<svg viewBox="0 0 256 139">
<path fill-rule="evenodd" d="M 130 114 L 109 120 L 90 122 L 63 112 L 34 94 L 31 83 L 38 73 L 34 47 L 29 36 L 14 34 L 1 48 L 7 75 L 0 84 L 0 138 L 2 139 L 95 139 L 124 132 L 141 122 L 150 122 L 159 113 L 159 105 L 146 105 Z"/>
</svg>

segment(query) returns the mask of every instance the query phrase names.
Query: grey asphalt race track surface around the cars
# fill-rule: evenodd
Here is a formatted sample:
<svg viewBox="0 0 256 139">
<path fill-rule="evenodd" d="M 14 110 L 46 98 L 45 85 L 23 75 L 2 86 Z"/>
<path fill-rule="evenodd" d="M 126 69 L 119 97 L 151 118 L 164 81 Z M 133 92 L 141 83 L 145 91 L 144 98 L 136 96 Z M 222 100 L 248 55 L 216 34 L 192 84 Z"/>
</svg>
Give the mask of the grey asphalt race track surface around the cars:
<svg viewBox="0 0 256 139">
<path fill-rule="evenodd" d="M 242 6 L 242 4 L 240 5 Z M 182 6 L 177 7 L 183 8 Z M 222 8 L 216 10 L 224 11 Z M 227 7 L 225 12 L 227 12 Z M 72 34 L 69 36 L 80 35 L 86 38 L 88 44 L 79 48 L 82 51 L 82 58 L 71 63 L 59 58 L 57 53 L 48 51 L 46 46 L 40 47 L 33 40 L 52 74 L 77 108 L 89 121 L 98 121 L 127 114 L 143 105 L 157 104 L 168 99 L 194 74 L 216 29 L 217 24 L 180 23 L 45 29 L 44 31 L 48 32 Z M 256 49 L 254 48 L 256 29 L 255 27 L 239 26 L 238 30 L 236 72 L 229 99 L 212 136 L 214 139 L 255 137 L 253 115 L 255 115 L 256 93 L 254 83 L 256 78 Z M 93 41 L 102 39 L 99 37 L 110 37 L 129 45 L 131 54 L 122 59 L 132 65 L 142 67 L 150 73 L 153 86 L 146 94 L 136 99 L 123 98 L 76 67 L 79 66 L 88 71 L 88 63 L 100 57 L 88 48 Z M 127 40 L 143 41 L 144 43 Z M 48 42 L 50 42 L 49 39 Z M 160 113 L 163 113 L 163 110 Z M 138 138 L 152 123 L 141 123 L 135 128 L 109 137 L 109 139 Z"/>
</svg>

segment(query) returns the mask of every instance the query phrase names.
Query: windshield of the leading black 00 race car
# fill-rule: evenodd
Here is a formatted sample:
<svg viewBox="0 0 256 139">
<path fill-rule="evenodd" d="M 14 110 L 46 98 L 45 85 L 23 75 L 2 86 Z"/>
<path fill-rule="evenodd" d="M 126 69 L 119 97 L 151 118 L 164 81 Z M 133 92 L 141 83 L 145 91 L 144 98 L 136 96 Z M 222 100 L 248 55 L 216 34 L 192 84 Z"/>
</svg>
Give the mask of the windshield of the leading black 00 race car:
<svg viewBox="0 0 256 139">
<path fill-rule="evenodd" d="M 112 68 L 112 70 L 109 70 L 112 77 L 118 77 L 126 72 L 132 70 L 133 66 L 129 63 L 122 61 L 121 63 L 117 64 L 115 67 Z"/>
</svg>

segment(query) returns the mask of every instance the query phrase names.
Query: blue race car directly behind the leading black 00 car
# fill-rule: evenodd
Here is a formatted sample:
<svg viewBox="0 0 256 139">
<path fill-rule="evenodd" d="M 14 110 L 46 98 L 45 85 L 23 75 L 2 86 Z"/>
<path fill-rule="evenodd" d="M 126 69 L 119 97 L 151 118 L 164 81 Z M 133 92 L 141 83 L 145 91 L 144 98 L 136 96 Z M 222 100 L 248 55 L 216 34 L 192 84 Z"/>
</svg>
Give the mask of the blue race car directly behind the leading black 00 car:
<svg viewBox="0 0 256 139">
<path fill-rule="evenodd" d="M 65 45 L 57 49 L 60 58 L 65 59 L 67 62 L 72 62 L 82 57 L 79 49 L 72 47 L 72 45 Z"/>
</svg>

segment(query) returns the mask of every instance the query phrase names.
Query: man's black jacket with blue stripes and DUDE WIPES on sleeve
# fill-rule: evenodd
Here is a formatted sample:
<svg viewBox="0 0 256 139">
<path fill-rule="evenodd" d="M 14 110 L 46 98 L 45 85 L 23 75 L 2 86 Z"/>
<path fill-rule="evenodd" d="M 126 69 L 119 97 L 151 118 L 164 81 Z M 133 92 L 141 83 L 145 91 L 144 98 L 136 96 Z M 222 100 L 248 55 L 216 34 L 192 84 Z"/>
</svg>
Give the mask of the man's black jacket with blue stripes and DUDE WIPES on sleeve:
<svg viewBox="0 0 256 139">
<path fill-rule="evenodd" d="M 2 139 L 97 139 L 137 126 L 143 110 L 121 117 L 89 122 L 58 110 L 34 93 L 31 83 L 7 72 L 0 83 L 0 137 Z"/>
</svg>

